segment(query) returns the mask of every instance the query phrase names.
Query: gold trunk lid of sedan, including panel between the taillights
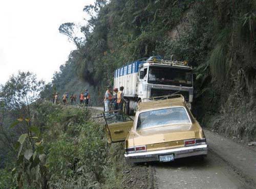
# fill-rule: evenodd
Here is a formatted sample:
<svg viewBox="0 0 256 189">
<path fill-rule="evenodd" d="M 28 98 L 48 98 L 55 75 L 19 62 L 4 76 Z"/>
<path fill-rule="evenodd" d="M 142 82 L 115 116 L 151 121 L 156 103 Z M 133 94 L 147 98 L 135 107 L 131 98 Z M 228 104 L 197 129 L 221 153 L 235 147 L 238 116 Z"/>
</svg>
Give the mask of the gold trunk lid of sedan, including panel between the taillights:
<svg viewBox="0 0 256 189">
<path fill-rule="evenodd" d="M 198 138 L 199 129 L 192 124 L 169 125 L 138 130 L 134 145 L 146 145 L 147 151 L 184 146 L 184 140 Z"/>
</svg>

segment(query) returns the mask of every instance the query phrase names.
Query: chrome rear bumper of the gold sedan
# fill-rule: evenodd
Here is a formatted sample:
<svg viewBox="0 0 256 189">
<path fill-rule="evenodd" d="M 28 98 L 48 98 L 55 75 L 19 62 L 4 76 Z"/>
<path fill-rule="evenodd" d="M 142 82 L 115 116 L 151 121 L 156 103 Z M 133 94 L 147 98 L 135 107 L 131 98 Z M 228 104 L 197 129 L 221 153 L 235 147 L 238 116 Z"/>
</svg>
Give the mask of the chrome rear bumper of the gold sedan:
<svg viewBox="0 0 256 189">
<path fill-rule="evenodd" d="M 124 154 L 127 163 L 140 163 L 147 161 L 159 161 L 159 155 L 174 154 L 174 159 L 196 156 L 196 155 L 207 155 L 208 145 L 201 144 L 196 146 L 174 148 L 167 150 L 156 150 L 150 152 L 139 152 Z"/>
</svg>

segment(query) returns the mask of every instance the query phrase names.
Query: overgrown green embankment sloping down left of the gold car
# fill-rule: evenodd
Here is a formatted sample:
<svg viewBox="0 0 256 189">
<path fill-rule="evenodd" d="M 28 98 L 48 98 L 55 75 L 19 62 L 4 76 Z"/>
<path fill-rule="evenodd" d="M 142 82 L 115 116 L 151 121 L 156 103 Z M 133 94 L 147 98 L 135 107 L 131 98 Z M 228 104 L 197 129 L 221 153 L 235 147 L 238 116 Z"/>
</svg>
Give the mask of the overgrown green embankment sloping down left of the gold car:
<svg viewBox="0 0 256 189">
<path fill-rule="evenodd" d="M 33 130 L 38 133 L 36 151 L 24 138 L 19 156 L 26 159 L 17 160 L 15 169 L 0 170 L 1 188 L 15 186 L 12 169 L 20 188 L 151 188 L 151 168 L 127 165 L 123 143 L 109 145 L 103 119 L 91 119 L 99 110 L 48 101 L 36 106 L 31 112 L 31 123 L 38 128 Z M 43 155 L 37 161 L 39 147 Z M 24 171 L 24 165 L 30 169 Z"/>
</svg>

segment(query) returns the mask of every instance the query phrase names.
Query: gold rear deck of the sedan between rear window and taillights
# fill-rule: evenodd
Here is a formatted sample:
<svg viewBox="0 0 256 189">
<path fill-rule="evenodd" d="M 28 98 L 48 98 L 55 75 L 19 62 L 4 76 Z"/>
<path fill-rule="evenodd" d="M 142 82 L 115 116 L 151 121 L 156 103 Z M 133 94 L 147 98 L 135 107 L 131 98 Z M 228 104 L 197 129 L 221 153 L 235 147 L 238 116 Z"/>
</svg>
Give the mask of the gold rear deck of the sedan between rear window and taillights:
<svg viewBox="0 0 256 189">
<path fill-rule="evenodd" d="M 134 145 L 148 145 L 164 142 L 200 138 L 200 127 L 193 124 L 169 125 L 157 128 L 137 130 Z"/>
</svg>

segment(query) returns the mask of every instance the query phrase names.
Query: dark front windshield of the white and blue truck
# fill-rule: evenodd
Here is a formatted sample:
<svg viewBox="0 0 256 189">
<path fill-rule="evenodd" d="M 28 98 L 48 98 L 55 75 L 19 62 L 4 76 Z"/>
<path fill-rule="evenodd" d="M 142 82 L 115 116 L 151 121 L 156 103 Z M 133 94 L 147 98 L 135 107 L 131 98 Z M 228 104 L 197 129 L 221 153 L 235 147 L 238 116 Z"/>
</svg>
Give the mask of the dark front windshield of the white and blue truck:
<svg viewBox="0 0 256 189">
<path fill-rule="evenodd" d="M 148 83 L 192 87 L 192 71 L 174 67 L 151 66 Z"/>
</svg>

